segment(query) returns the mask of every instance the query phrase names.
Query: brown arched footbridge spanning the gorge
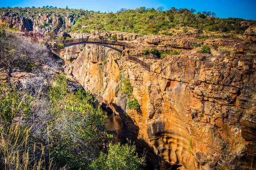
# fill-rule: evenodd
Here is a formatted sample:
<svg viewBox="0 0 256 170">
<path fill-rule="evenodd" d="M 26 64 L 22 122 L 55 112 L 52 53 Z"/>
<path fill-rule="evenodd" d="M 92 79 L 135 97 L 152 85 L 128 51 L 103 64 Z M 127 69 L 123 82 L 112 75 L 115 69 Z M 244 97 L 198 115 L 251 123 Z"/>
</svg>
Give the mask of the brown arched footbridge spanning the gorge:
<svg viewBox="0 0 256 170">
<path fill-rule="evenodd" d="M 115 40 L 104 40 L 104 39 L 99 39 L 99 38 L 76 38 L 76 39 L 67 39 L 67 40 L 59 40 L 57 41 L 60 44 L 64 45 L 65 47 L 69 47 L 72 45 L 79 45 L 79 44 L 97 44 L 97 45 L 103 45 L 109 48 L 112 48 L 116 51 L 119 51 L 122 53 L 122 50 L 115 48 L 111 45 L 118 45 L 118 46 L 126 46 L 126 42 L 121 42 L 121 41 L 115 41 Z"/>
</svg>

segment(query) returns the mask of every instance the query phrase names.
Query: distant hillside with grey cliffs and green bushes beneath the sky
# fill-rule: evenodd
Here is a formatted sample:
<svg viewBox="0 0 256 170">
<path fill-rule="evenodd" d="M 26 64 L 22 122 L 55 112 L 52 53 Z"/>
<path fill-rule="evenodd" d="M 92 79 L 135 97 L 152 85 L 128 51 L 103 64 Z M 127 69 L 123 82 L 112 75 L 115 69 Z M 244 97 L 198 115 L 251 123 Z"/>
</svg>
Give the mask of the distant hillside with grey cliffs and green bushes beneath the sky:
<svg viewBox="0 0 256 170">
<path fill-rule="evenodd" d="M 113 13 L 69 8 L 0 8 L 0 23 L 20 30 L 34 26 L 41 31 L 122 31 L 137 34 L 190 34 L 198 31 L 218 31 L 242 34 L 255 21 L 243 19 L 221 19 L 214 12 L 186 8 L 163 11 L 162 8 L 125 9 Z M 35 30 L 34 28 L 34 30 Z"/>
</svg>

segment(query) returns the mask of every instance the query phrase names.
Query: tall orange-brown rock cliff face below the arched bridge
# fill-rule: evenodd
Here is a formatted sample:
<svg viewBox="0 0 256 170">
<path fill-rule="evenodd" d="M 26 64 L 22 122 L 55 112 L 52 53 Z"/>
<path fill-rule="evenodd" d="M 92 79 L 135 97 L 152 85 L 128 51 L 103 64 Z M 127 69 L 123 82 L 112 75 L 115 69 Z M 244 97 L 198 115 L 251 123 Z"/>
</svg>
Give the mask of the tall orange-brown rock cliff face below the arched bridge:
<svg viewBox="0 0 256 170">
<path fill-rule="evenodd" d="M 140 153 L 147 151 L 151 168 L 256 167 L 256 61 L 252 56 L 172 56 L 154 62 L 148 72 L 126 59 L 128 50 L 120 56 L 110 48 L 77 45 L 64 52 L 67 73 L 108 111 L 119 113 L 126 136 Z M 140 110 L 126 107 L 127 99 L 118 88 L 119 74 L 131 82 Z"/>
</svg>

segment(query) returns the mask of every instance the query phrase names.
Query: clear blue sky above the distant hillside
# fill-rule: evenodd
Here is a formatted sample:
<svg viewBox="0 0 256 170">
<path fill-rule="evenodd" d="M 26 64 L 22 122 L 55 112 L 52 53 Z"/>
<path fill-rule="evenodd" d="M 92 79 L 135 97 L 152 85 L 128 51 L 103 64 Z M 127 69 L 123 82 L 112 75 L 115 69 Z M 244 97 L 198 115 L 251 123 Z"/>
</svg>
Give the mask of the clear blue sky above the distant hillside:
<svg viewBox="0 0 256 170">
<path fill-rule="evenodd" d="M 256 0 L 0 0 L 0 7 L 42 7 L 88 9 L 101 12 L 116 12 L 120 8 L 135 9 L 140 6 L 164 10 L 194 8 L 197 11 L 212 11 L 221 18 L 244 18 L 256 20 Z"/>
</svg>

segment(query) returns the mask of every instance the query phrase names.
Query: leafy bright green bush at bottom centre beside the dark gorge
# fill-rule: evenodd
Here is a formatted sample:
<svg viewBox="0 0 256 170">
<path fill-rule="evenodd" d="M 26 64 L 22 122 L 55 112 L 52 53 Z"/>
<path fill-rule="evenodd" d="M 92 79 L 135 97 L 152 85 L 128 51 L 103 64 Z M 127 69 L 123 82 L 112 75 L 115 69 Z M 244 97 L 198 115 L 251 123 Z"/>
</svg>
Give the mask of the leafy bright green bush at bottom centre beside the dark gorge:
<svg viewBox="0 0 256 170">
<path fill-rule="evenodd" d="M 140 158 L 134 145 L 109 144 L 108 154 L 100 153 L 90 165 L 91 170 L 142 170 L 145 156 Z"/>
</svg>

